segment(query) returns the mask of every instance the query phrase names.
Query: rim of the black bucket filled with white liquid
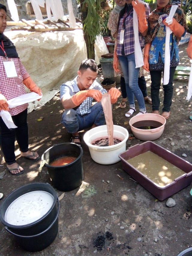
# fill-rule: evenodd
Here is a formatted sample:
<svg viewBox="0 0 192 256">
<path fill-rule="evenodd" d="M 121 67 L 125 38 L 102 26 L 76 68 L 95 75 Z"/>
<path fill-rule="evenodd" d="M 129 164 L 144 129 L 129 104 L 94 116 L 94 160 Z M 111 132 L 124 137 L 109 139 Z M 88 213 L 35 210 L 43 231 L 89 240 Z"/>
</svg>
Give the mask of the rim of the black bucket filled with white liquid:
<svg viewBox="0 0 192 256">
<path fill-rule="evenodd" d="M 33 222 L 31 222 L 31 223 L 29 223 L 29 224 L 25 224 L 25 225 L 13 225 L 13 224 L 9 224 L 7 221 L 5 221 L 5 219 L 3 218 L 3 216 L 2 216 L 2 214 L 1 214 L 1 210 L 2 210 L 2 208 L 3 208 L 3 206 L 4 206 L 4 203 L 6 203 L 6 201 L 7 200 L 9 200 L 9 198 L 11 198 L 12 196 L 13 196 L 13 194 L 16 194 L 16 192 L 18 192 L 19 190 L 23 190 L 24 188 L 27 188 L 27 187 L 30 187 L 30 186 L 32 186 L 32 185 L 34 185 L 34 184 L 36 184 L 36 185 L 46 185 L 46 186 L 48 186 L 51 190 L 52 190 L 52 192 L 53 192 L 53 203 L 52 203 L 52 206 L 50 207 L 50 209 L 46 212 L 46 214 L 45 215 L 43 215 L 41 218 L 39 218 L 38 220 L 36 220 L 36 221 L 33 221 Z M 33 190 L 33 191 L 37 191 L 37 190 Z M 45 190 L 41 190 L 41 191 L 45 191 Z M 29 191 L 29 192 L 32 192 L 32 191 Z M 47 192 L 47 191 L 46 191 Z M 23 193 L 22 195 L 24 195 L 24 194 L 27 194 L 28 192 L 26 192 L 26 193 Z M 49 192 L 48 192 L 49 193 Z M 18 197 L 16 197 L 14 200 L 16 200 Z M 13 200 L 13 201 L 14 201 Z M 17 188 L 17 189 L 15 189 L 11 194 L 9 194 L 7 197 L 6 197 L 6 199 L 3 201 L 3 203 L 1 204 L 1 207 L 0 207 L 0 220 L 1 220 L 1 222 L 5 225 L 5 226 L 8 226 L 8 227 L 10 227 L 10 228 L 13 228 L 13 229 L 26 229 L 26 228 L 29 228 L 29 227 L 32 227 L 34 224 L 38 224 L 38 223 L 40 223 L 44 218 L 46 218 L 48 215 L 49 215 L 49 213 L 52 211 L 52 209 L 55 207 L 55 203 L 56 203 L 56 200 L 57 200 L 57 194 L 56 194 L 56 191 L 55 191 L 55 189 L 49 184 L 49 183 L 43 183 L 43 182 L 34 182 L 34 183 L 30 183 L 30 184 L 26 184 L 26 185 L 23 185 L 22 187 L 20 187 L 20 188 Z M 11 202 L 11 203 L 13 203 L 13 201 Z M 11 204 L 10 203 L 10 204 Z M 9 205 L 10 205 L 9 204 Z M 8 206 L 9 207 L 9 206 Z M 8 209 L 8 207 L 7 207 L 7 209 Z M 4 216 L 5 217 L 5 216 Z"/>
</svg>

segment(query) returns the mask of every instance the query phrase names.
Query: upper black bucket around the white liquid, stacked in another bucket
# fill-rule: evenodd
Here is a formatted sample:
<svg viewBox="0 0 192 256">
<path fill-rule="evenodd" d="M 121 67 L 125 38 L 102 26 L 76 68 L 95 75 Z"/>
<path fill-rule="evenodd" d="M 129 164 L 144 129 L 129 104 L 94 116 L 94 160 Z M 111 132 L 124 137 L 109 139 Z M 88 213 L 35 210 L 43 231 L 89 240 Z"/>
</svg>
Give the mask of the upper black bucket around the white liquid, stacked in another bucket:
<svg viewBox="0 0 192 256">
<path fill-rule="evenodd" d="M 8 207 L 10 206 L 10 204 L 13 203 L 13 201 L 16 200 L 18 197 L 32 191 L 46 191 L 50 193 L 54 198 L 51 208 L 46 212 L 44 216 L 42 216 L 37 221 L 34 221 L 32 223 L 29 223 L 26 225 L 12 225 L 7 223 L 5 221 L 5 213 Z M 35 183 L 24 185 L 20 188 L 17 188 L 15 191 L 13 191 L 3 201 L 0 208 L 0 220 L 5 226 L 9 228 L 10 231 L 18 235 L 33 236 L 33 235 L 39 234 L 44 230 L 46 230 L 46 228 L 48 228 L 49 225 L 52 224 L 53 220 L 55 219 L 55 216 L 57 214 L 56 201 L 57 201 L 56 191 L 48 183 L 35 182 Z"/>
</svg>

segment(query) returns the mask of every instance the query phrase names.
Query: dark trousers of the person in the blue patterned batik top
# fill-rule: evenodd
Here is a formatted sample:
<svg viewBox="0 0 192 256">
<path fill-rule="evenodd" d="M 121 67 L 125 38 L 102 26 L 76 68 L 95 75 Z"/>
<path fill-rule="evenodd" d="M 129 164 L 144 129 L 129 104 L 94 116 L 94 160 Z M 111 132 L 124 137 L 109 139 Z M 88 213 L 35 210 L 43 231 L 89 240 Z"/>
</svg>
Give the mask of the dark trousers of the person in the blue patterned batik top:
<svg viewBox="0 0 192 256">
<path fill-rule="evenodd" d="M 164 89 L 164 101 L 163 101 L 163 112 L 169 112 L 172 104 L 173 97 L 173 76 L 175 73 L 176 67 L 170 68 L 170 77 L 169 83 L 163 85 Z M 151 99 L 152 99 L 152 109 L 159 110 L 160 99 L 159 99 L 159 90 L 161 87 L 161 75 L 164 75 L 164 70 L 153 70 L 150 71 L 151 74 Z"/>
</svg>

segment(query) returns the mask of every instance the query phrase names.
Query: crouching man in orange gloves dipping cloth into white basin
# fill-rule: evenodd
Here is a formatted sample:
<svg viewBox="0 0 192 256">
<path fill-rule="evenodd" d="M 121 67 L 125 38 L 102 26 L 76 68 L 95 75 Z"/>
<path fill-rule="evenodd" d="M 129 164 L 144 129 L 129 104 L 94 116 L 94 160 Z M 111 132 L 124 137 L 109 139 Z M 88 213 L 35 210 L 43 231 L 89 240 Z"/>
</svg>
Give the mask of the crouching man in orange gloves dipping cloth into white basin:
<svg viewBox="0 0 192 256">
<path fill-rule="evenodd" d="M 82 61 L 77 76 L 60 87 L 60 100 L 64 107 L 61 123 L 72 134 L 71 142 L 80 144 L 79 131 L 104 125 L 105 116 L 101 98 L 107 91 L 95 81 L 98 74 L 97 63 L 92 59 Z M 116 103 L 121 92 L 111 88 L 108 92 L 111 104 Z M 92 101 L 97 101 L 92 106 Z"/>
</svg>

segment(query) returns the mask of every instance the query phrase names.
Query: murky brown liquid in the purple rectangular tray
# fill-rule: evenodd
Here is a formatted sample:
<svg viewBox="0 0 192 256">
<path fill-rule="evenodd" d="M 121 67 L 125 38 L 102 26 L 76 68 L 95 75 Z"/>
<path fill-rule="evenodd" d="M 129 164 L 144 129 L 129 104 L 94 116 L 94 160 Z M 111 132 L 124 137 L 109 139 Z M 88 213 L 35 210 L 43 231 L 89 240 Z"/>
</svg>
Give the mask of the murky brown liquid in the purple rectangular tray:
<svg viewBox="0 0 192 256">
<path fill-rule="evenodd" d="M 161 187 L 185 174 L 184 171 L 151 151 L 130 158 L 127 162 Z"/>
</svg>

